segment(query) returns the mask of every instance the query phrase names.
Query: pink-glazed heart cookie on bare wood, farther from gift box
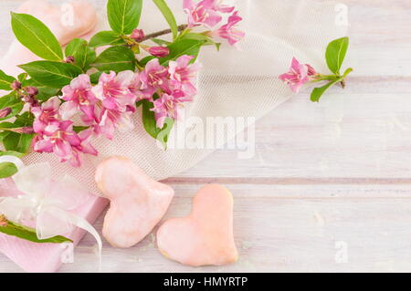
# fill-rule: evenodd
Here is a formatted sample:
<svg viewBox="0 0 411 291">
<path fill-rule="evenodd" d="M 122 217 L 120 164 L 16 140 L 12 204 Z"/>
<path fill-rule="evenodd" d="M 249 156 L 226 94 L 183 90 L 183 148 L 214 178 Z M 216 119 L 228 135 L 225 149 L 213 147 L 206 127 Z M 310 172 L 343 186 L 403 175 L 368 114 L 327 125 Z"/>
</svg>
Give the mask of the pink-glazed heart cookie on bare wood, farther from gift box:
<svg viewBox="0 0 411 291">
<path fill-rule="evenodd" d="M 157 244 L 163 255 L 184 265 L 236 262 L 231 192 L 216 184 L 200 189 L 192 213 L 163 223 L 157 232 Z"/>
</svg>

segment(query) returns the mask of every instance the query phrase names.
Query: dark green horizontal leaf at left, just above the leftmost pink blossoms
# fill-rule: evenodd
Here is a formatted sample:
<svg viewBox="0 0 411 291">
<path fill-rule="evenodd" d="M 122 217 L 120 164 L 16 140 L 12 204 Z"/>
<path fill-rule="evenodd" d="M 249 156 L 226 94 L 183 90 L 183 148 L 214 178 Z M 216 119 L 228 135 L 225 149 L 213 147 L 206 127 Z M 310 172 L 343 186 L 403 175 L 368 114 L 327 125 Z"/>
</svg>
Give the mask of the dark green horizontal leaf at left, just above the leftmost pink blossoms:
<svg viewBox="0 0 411 291">
<path fill-rule="evenodd" d="M 23 68 L 38 83 L 50 88 L 62 88 L 83 73 L 77 66 L 47 60 L 39 60 L 18 67 Z"/>
</svg>

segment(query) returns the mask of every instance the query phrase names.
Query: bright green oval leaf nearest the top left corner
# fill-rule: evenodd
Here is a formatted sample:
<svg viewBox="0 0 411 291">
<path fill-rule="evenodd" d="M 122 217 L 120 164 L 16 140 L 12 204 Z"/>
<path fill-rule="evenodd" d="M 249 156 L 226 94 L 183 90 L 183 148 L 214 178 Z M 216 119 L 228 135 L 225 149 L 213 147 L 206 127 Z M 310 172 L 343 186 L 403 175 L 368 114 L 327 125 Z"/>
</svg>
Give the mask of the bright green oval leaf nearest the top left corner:
<svg viewBox="0 0 411 291">
<path fill-rule="evenodd" d="M 63 51 L 56 36 L 34 16 L 13 13 L 12 28 L 18 41 L 38 57 L 62 60 Z"/>
</svg>

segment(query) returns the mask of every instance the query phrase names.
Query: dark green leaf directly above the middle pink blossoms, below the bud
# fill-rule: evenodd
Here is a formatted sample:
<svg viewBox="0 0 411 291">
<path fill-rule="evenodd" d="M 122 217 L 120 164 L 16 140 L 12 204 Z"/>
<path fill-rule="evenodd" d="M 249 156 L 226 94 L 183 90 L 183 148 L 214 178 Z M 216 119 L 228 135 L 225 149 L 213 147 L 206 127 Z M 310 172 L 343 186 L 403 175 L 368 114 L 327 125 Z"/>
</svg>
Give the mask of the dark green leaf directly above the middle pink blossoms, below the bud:
<svg viewBox="0 0 411 291">
<path fill-rule="evenodd" d="M 135 57 L 127 47 L 109 47 L 97 57 L 91 67 L 100 71 L 115 71 L 116 73 L 135 68 Z"/>
</svg>

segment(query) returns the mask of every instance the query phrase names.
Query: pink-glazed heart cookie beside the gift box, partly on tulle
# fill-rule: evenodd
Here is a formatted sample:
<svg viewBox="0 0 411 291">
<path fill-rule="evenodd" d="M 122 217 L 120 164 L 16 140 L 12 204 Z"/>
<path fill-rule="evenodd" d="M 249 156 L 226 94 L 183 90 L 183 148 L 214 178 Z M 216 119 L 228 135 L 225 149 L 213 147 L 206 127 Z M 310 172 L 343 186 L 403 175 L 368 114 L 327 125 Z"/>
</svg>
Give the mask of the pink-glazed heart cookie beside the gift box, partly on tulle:
<svg viewBox="0 0 411 291">
<path fill-rule="evenodd" d="M 122 157 L 102 161 L 96 182 L 111 201 L 102 234 L 115 247 L 140 242 L 160 222 L 174 196 L 173 188 L 154 181 Z"/>
</svg>

